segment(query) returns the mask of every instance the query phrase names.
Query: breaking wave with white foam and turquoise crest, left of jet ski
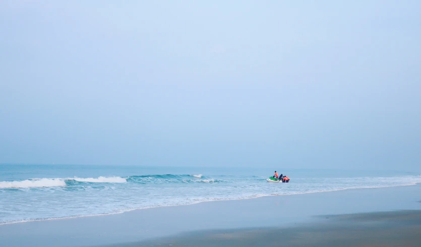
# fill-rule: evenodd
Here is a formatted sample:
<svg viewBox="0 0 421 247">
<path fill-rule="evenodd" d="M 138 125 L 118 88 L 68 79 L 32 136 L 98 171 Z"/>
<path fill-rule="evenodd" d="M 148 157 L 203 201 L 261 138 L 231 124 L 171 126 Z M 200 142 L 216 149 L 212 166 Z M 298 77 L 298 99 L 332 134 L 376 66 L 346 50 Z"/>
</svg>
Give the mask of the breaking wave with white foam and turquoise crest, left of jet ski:
<svg viewBox="0 0 421 247">
<path fill-rule="evenodd" d="M 0 189 L 5 188 L 36 188 L 62 187 L 80 183 L 214 183 L 224 182 L 219 179 L 202 179 L 199 175 L 142 175 L 130 177 L 97 177 L 97 178 L 28 178 L 21 181 L 0 181 Z"/>
</svg>

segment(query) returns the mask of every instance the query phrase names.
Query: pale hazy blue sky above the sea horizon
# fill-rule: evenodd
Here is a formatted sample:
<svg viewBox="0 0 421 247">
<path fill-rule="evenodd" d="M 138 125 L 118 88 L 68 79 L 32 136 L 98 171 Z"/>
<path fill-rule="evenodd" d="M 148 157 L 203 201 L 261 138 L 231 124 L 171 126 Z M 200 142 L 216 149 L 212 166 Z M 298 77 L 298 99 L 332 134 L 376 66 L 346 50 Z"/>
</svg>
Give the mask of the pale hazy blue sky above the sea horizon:
<svg viewBox="0 0 421 247">
<path fill-rule="evenodd" d="M 0 163 L 421 170 L 420 1 L 0 2 Z"/>
</svg>

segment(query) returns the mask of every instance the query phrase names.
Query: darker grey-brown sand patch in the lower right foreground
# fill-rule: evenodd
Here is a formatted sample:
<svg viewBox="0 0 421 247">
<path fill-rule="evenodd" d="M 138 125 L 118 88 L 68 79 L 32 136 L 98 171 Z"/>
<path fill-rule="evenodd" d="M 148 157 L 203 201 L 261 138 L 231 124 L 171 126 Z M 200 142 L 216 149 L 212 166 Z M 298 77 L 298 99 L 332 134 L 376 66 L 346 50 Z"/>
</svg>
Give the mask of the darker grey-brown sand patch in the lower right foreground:
<svg viewBox="0 0 421 247">
<path fill-rule="evenodd" d="M 419 247 L 421 246 L 421 210 L 321 216 L 319 221 L 308 226 L 202 231 L 118 246 L 255 247 L 264 245 Z"/>
</svg>

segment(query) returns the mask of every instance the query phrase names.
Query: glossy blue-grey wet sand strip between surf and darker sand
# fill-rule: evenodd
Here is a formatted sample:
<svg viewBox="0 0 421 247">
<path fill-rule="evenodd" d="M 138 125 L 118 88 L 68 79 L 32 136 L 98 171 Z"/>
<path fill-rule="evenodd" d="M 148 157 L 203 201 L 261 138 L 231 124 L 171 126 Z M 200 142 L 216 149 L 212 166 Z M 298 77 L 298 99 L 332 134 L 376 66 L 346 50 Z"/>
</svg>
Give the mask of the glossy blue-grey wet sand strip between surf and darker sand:
<svg viewBox="0 0 421 247">
<path fill-rule="evenodd" d="M 213 201 L 123 214 L 0 225 L 2 246 L 106 246 L 211 230 L 306 226 L 321 215 L 421 210 L 421 185 Z"/>
</svg>

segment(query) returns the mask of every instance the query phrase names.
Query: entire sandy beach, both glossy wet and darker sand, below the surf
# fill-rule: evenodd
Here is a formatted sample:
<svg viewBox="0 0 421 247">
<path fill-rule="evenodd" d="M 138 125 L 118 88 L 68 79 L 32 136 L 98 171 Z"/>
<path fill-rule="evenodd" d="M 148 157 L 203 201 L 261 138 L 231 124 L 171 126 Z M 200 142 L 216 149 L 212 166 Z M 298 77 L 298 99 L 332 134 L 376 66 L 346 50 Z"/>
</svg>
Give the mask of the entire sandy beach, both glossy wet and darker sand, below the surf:
<svg viewBox="0 0 421 247">
<path fill-rule="evenodd" d="M 348 189 L 6 224 L 0 245 L 419 246 L 420 192 Z"/>
</svg>

